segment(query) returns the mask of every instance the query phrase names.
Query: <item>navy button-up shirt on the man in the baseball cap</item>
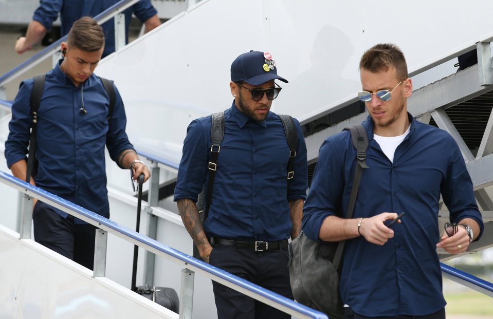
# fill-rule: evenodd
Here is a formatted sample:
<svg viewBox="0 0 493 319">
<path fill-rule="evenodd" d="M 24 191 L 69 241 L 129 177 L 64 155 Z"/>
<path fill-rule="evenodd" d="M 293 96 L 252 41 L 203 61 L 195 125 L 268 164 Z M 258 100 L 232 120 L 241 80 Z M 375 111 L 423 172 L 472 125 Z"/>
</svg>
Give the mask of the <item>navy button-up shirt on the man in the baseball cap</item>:
<svg viewBox="0 0 493 319">
<path fill-rule="evenodd" d="M 295 176 L 287 182 L 289 147 L 280 118 L 269 112 L 265 121 L 245 116 L 236 106 L 224 112 L 225 134 L 217 160 L 211 206 L 204 228 L 208 236 L 277 241 L 289 238 L 288 200 L 305 199 L 306 145 L 297 120 Z M 194 201 L 207 185 L 211 117 L 188 127 L 176 181 L 175 201 Z M 287 191 L 286 191 L 287 189 Z"/>
</svg>

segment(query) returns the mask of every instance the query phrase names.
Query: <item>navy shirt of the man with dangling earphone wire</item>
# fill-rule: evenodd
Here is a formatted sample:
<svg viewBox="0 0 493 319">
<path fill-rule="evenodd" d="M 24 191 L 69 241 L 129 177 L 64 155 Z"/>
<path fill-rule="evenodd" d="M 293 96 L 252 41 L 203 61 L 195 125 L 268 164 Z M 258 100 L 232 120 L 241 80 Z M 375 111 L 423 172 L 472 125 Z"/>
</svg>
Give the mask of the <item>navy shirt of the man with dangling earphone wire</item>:
<svg viewBox="0 0 493 319">
<path fill-rule="evenodd" d="M 5 142 L 9 167 L 26 159 L 32 121 L 29 104 L 32 84 L 33 79 L 23 81 L 12 104 L 10 132 Z M 93 73 L 75 87 L 57 65 L 46 74 L 36 134 L 39 161 L 38 174 L 34 177 L 36 185 L 104 217 L 109 217 L 104 146 L 115 161 L 124 149 L 133 148 L 125 133 L 123 102 L 114 88 L 115 107 L 108 121 L 109 97 L 101 80 Z M 85 115 L 79 111 L 82 96 Z M 67 216 L 61 210 L 54 210 Z"/>
</svg>

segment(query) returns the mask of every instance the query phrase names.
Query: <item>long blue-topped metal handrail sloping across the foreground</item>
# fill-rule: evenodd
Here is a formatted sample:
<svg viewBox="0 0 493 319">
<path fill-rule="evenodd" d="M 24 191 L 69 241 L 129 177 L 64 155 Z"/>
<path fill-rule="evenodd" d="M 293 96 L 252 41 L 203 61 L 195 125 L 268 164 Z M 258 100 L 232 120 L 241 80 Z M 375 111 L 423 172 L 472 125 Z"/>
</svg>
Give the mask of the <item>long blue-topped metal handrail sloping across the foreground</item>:
<svg viewBox="0 0 493 319">
<path fill-rule="evenodd" d="M 13 187 L 28 196 L 38 198 L 43 202 L 52 205 L 53 207 L 58 208 L 74 217 L 93 224 L 101 230 L 123 238 L 134 245 L 175 262 L 175 264 L 200 273 L 215 282 L 244 293 L 245 295 L 257 299 L 258 301 L 269 306 L 275 307 L 291 315 L 296 315 L 299 318 L 327 319 L 327 316 L 319 311 L 308 308 L 289 298 L 281 296 L 275 292 L 271 292 L 263 287 L 252 284 L 245 279 L 211 266 L 206 262 L 195 259 L 185 253 L 166 246 L 161 242 L 121 226 L 112 220 L 104 218 L 92 211 L 80 207 L 79 205 L 71 203 L 68 200 L 53 195 L 40 187 L 33 186 L 2 171 L 0 171 L 0 182 Z M 29 224 L 30 222 L 31 221 L 29 221 Z"/>
</svg>

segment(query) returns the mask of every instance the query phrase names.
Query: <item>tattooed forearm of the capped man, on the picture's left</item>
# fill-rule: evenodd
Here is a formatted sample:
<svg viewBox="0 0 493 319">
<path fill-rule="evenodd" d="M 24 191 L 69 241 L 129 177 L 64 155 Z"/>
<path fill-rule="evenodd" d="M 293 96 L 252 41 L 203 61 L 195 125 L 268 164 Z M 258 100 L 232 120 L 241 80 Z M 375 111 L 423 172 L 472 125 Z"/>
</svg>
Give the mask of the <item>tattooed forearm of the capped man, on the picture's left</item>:
<svg viewBox="0 0 493 319">
<path fill-rule="evenodd" d="M 197 205 L 189 198 L 178 199 L 178 211 L 180 212 L 181 220 L 185 228 L 192 237 L 193 242 L 197 247 L 208 243 L 204 226 L 200 220 L 200 215 L 197 210 Z"/>
</svg>

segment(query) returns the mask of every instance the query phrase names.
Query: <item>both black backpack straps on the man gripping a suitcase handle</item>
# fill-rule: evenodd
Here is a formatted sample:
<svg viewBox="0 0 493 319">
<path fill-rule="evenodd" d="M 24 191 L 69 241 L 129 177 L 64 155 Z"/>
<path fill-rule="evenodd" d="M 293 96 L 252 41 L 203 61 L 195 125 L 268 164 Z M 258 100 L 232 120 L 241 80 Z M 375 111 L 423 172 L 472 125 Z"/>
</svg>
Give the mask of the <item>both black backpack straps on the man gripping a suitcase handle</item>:
<svg viewBox="0 0 493 319">
<path fill-rule="evenodd" d="M 36 160 L 36 126 L 38 123 L 38 108 L 40 107 L 41 98 L 43 96 L 43 90 L 45 86 L 46 73 L 38 74 L 34 77 L 34 83 L 31 90 L 30 99 L 30 115 L 32 116 L 31 123 L 31 137 L 29 139 L 29 155 L 27 157 L 27 173 L 26 182 L 30 182 L 31 175 L 34 177 L 38 173 L 38 161 Z M 113 113 L 113 108 L 115 107 L 115 88 L 113 83 L 108 79 L 99 77 L 103 83 L 104 90 L 109 97 L 109 111 L 108 111 L 108 121 Z"/>
</svg>

